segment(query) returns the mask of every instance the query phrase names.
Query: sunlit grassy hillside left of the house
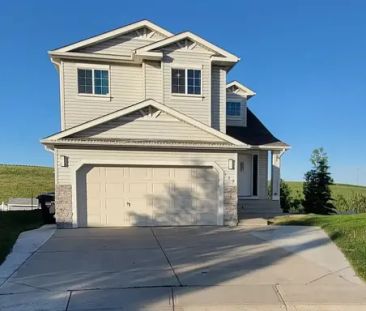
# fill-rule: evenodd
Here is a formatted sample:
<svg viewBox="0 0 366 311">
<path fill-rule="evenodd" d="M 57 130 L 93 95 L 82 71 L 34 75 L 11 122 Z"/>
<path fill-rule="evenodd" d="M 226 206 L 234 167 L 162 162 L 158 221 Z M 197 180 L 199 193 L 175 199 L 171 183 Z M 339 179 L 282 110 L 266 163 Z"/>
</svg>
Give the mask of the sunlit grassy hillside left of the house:
<svg viewBox="0 0 366 311">
<path fill-rule="evenodd" d="M 11 197 L 36 197 L 54 191 L 53 168 L 0 164 L 0 204 Z"/>
</svg>

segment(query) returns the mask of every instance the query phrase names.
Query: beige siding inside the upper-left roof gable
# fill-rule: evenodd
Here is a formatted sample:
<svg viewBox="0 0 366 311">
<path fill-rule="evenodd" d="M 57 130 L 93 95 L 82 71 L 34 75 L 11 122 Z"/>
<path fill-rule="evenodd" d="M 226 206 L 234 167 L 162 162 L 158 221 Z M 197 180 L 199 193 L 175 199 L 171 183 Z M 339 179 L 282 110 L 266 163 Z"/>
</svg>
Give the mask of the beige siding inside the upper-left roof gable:
<svg viewBox="0 0 366 311">
<path fill-rule="evenodd" d="M 124 34 L 113 39 L 109 39 L 82 49 L 76 50 L 82 53 L 101 53 L 112 55 L 130 55 L 133 50 L 142 46 L 154 43 L 165 38 L 155 33 L 151 38 L 139 36 L 136 32 Z"/>
</svg>

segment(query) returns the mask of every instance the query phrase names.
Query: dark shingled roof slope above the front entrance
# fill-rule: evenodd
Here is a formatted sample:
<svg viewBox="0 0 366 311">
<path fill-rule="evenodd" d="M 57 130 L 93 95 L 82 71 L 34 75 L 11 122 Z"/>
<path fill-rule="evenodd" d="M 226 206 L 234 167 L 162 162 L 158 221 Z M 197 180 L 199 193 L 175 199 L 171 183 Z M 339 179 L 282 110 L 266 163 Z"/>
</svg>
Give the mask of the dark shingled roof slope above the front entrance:
<svg viewBox="0 0 366 311">
<path fill-rule="evenodd" d="M 289 149 L 290 146 L 279 139 L 263 125 L 263 123 L 247 109 L 247 126 L 227 126 L 226 133 L 243 143 L 263 148 Z"/>
</svg>

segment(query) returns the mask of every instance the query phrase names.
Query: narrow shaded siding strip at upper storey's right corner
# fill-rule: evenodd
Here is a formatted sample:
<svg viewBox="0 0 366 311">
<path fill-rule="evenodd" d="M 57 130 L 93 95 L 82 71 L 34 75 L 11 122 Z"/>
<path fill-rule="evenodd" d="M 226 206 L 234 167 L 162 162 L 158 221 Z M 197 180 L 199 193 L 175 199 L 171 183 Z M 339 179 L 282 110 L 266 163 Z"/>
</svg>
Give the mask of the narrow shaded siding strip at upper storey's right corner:
<svg viewBox="0 0 366 311">
<path fill-rule="evenodd" d="M 226 133 L 226 70 L 212 66 L 212 127 Z"/>
</svg>

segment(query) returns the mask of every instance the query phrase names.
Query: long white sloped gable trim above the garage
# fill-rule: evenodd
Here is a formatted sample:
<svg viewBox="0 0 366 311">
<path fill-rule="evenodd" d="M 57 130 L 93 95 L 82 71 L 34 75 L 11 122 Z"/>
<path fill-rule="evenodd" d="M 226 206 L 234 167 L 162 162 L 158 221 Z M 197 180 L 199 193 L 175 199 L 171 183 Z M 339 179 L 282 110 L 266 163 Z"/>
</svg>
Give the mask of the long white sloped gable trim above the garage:
<svg viewBox="0 0 366 311">
<path fill-rule="evenodd" d="M 148 106 L 155 107 L 156 109 L 161 110 L 161 111 L 175 117 L 176 119 L 178 119 L 180 121 L 183 121 L 187 124 L 190 124 L 190 125 L 192 125 L 196 128 L 199 128 L 199 129 L 207 132 L 208 134 L 216 136 L 217 138 L 221 139 L 223 142 L 232 144 L 232 145 L 240 147 L 240 148 L 250 148 L 249 145 L 241 142 L 240 140 L 237 140 L 237 139 L 235 139 L 231 136 L 228 136 L 228 135 L 226 135 L 226 134 L 224 134 L 224 133 L 222 133 L 218 130 L 215 130 L 214 128 L 212 128 L 210 126 L 208 126 L 206 124 L 203 124 L 203 123 L 201 123 L 201 122 L 199 122 L 199 121 L 197 121 L 197 120 L 195 120 L 195 119 L 193 119 L 193 118 L 191 118 L 191 117 L 189 117 L 185 114 L 182 114 L 181 112 L 179 112 L 177 110 L 174 110 L 174 109 L 172 109 L 172 108 L 170 108 L 166 105 L 163 105 L 163 104 L 161 104 L 161 103 L 159 103 L 159 102 L 157 102 L 153 99 L 144 100 L 144 101 L 139 102 L 137 104 L 128 106 L 126 108 L 117 110 L 117 111 L 112 112 L 110 114 L 104 115 L 102 117 L 99 117 L 99 118 L 96 118 L 94 120 L 85 122 L 83 124 L 77 125 L 77 126 L 72 127 L 70 129 L 67 129 L 67 130 L 61 131 L 59 133 L 56 133 L 54 135 L 48 136 L 48 137 L 42 139 L 41 143 L 44 144 L 44 145 L 55 145 L 55 144 L 57 144 L 58 141 L 61 141 L 65 138 L 67 138 L 70 135 L 74 135 L 78 132 L 87 130 L 87 129 L 92 128 L 94 126 L 97 126 L 97 125 L 100 125 L 102 123 L 111 121 L 113 119 L 125 116 L 127 114 L 132 113 L 132 112 L 135 112 L 135 111 L 138 111 L 140 109 L 146 108 Z"/>
</svg>

